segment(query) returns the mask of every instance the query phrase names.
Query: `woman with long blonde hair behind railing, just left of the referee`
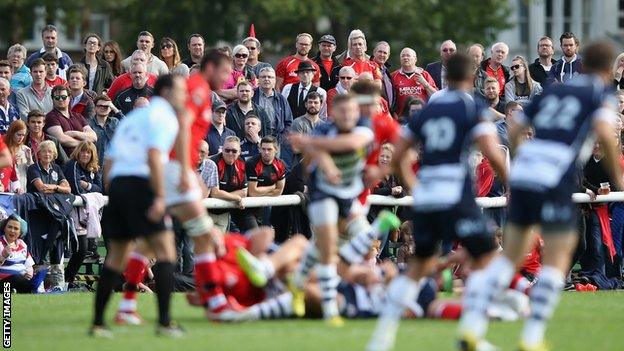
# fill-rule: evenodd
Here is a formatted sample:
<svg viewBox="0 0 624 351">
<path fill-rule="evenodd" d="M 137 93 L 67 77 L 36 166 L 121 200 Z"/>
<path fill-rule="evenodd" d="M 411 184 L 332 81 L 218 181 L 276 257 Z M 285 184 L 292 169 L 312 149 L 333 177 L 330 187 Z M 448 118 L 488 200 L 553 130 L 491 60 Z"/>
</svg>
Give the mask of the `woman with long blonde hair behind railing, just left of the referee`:
<svg viewBox="0 0 624 351">
<path fill-rule="evenodd" d="M 72 189 L 72 194 L 101 193 L 102 177 L 95 144 L 81 141 L 65 164 L 63 173 Z"/>
</svg>

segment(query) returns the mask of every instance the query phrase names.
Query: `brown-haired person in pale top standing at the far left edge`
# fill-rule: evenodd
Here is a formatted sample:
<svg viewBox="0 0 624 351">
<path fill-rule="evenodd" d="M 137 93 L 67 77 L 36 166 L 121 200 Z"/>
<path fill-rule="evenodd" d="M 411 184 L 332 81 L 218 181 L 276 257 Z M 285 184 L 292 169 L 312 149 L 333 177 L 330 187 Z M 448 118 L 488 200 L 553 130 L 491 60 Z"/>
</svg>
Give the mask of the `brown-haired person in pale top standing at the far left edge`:
<svg viewBox="0 0 624 351">
<path fill-rule="evenodd" d="M 20 189 L 21 192 L 26 191 L 26 171 L 28 167 L 34 163 L 32 151 L 24 144 L 27 133 L 28 129 L 26 128 L 26 123 L 22 120 L 17 120 L 11 123 L 9 130 L 4 136 L 4 143 L 13 158 L 13 168 L 17 176 L 17 181 L 19 181 L 18 189 Z"/>
</svg>

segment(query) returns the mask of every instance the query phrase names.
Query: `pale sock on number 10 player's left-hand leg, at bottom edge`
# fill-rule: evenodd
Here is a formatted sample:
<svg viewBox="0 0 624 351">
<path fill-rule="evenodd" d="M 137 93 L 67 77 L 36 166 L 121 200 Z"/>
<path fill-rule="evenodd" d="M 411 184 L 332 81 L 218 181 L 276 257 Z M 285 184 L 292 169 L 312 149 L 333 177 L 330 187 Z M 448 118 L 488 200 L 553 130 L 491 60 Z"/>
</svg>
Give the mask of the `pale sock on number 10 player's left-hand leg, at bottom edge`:
<svg viewBox="0 0 624 351">
<path fill-rule="evenodd" d="M 412 301 L 416 301 L 420 293 L 421 282 L 400 275 L 390 283 L 386 304 L 381 310 L 367 350 L 392 349 L 403 311 Z"/>
</svg>

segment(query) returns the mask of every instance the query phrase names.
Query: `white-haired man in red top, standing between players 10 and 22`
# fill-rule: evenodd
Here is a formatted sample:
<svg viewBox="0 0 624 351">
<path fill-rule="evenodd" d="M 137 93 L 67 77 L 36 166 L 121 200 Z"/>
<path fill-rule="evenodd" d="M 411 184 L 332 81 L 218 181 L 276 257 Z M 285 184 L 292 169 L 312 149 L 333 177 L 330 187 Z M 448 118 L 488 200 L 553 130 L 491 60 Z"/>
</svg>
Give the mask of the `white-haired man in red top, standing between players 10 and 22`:
<svg viewBox="0 0 624 351">
<path fill-rule="evenodd" d="M 485 80 L 488 77 L 496 79 L 498 82 L 498 91 L 501 98 L 505 98 L 505 84 L 509 82 L 510 73 L 509 67 L 503 65 L 503 62 L 507 59 L 509 54 L 509 46 L 503 42 L 498 42 L 492 45 L 491 56 L 481 62 L 481 66 L 477 70 L 477 77 L 475 78 L 475 92 L 480 95 L 485 95 Z"/>
</svg>

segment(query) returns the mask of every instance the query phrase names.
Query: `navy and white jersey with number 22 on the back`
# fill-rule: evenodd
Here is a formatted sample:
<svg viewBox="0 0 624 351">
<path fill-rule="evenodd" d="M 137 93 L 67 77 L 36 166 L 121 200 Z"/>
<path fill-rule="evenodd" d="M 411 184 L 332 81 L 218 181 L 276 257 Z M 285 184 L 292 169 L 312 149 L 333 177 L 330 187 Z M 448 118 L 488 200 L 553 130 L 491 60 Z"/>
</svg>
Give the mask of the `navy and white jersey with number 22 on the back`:
<svg viewBox="0 0 624 351">
<path fill-rule="evenodd" d="M 537 96 L 524 113 L 515 116 L 518 123 L 535 128 L 535 138 L 518 148 L 511 186 L 533 191 L 573 186 L 576 167 L 591 155 L 592 122 L 614 122 L 615 111 L 612 94 L 595 76 L 579 76 Z"/>
</svg>

